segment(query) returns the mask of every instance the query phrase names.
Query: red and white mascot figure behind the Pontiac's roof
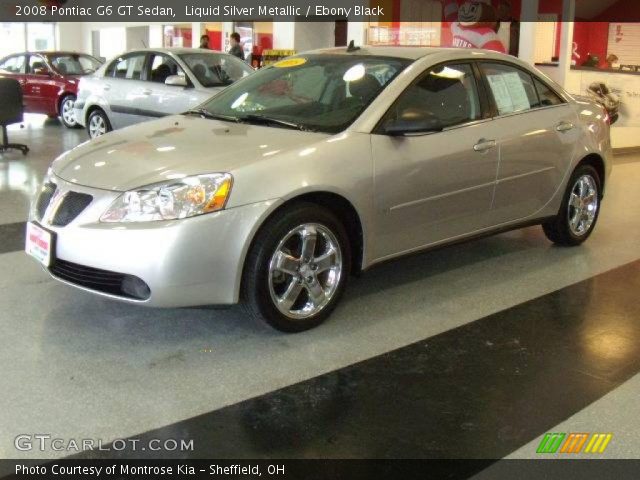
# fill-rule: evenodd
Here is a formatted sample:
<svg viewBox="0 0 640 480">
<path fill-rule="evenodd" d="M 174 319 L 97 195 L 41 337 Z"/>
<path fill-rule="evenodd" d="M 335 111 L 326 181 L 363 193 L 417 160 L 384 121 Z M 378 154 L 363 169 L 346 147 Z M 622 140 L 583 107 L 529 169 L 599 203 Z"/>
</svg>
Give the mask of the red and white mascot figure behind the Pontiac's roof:
<svg viewBox="0 0 640 480">
<path fill-rule="evenodd" d="M 451 22 L 452 46 L 506 53 L 497 34 L 498 12 L 491 0 L 446 0 L 444 17 Z"/>
</svg>

